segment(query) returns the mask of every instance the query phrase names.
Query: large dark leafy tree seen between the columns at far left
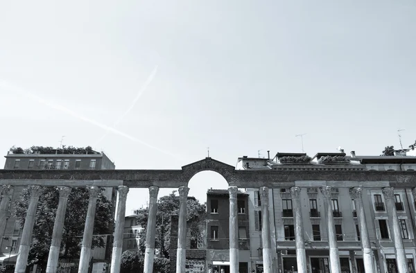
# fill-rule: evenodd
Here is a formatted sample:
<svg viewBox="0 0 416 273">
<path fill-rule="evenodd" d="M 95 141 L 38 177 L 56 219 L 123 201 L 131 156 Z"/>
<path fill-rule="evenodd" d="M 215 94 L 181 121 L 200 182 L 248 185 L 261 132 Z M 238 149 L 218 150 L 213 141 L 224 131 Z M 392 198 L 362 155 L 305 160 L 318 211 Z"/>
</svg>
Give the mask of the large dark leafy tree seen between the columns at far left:
<svg viewBox="0 0 416 273">
<path fill-rule="evenodd" d="M 37 206 L 35 226 L 33 227 L 34 240 L 28 256 L 28 265 L 37 264 L 41 267 L 42 272 L 46 270 L 53 224 L 59 201 L 59 193 L 56 188 L 46 187 L 43 190 Z M 89 193 L 85 188 L 72 189 L 68 198 L 67 212 L 65 213 L 61 244 L 62 258 L 78 258 L 80 256 L 80 243 L 83 240 L 88 200 Z M 29 201 L 30 195 L 27 190 L 24 190 L 21 198 L 16 201 L 16 218 L 21 220 L 19 221 L 21 228 L 24 227 Z M 109 223 L 112 221 L 111 206 L 111 202 L 104 195 L 99 195 L 94 220 L 92 248 L 104 247 L 105 236 L 101 234 L 112 232 L 109 230 Z"/>
</svg>

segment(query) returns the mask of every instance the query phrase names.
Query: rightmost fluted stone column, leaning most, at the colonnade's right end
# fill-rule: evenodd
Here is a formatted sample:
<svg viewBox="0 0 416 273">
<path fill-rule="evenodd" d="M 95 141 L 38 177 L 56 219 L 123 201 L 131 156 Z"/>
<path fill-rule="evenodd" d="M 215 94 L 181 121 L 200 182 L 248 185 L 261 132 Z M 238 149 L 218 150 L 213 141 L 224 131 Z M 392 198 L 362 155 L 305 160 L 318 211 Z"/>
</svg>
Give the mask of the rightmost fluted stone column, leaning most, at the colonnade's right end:
<svg viewBox="0 0 416 273">
<path fill-rule="evenodd" d="M 387 208 L 388 220 L 390 227 L 392 227 L 393 243 L 395 243 L 396 262 L 399 273 L 407 272 L 406 252 L 403 247 L 403 240 L 401 240 L 399 218 L 397 218 L 396 204 L 395 204 L 395 189 L 386 187 L 383 188 L 383 195 L 385 199 L 385 207 Z"/>
</svg>

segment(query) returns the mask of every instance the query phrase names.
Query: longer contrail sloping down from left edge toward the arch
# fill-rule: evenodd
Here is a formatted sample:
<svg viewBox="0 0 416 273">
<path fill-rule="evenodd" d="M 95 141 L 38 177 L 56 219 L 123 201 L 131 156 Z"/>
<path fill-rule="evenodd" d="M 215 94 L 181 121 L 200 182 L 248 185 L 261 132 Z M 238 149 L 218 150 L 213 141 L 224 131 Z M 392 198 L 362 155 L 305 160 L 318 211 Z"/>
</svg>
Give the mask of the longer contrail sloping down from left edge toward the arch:
<svg viewBox="0 0 416 273">
<path fill-rule="evenodd" d="M 118 134 L 120 136 L 124 136 L 126 139 L 130 139 L 131 141 L 135 141 L 135 142 L 141 143 L 142 145 L 147 146 L 148 148 L 152 148 L 154 150 L 157 150 L 159 152 L 164 153 L 165 155 L 169 155 L 171 157 L 174 157 L 176 159 L 179 159 L 177 157 L 177 155 L 173 155 L 170 152 L 166 152 L 166 150 L 162 150 L 160 148 L 157 148 L 157 147 L 155 147 L 153 145 L 150 145 L 150 144 L 148 144 L 148 143 L 146 143 L 144 141 L 141 141 L 140 139 L 137 139 L 135 136 L 131 136 L 130 134 L 125 134 L 124 132 L 121 132 L 120 130 L 116 130 L 113 127 L 109 127 L 109 126 L 107 126 L 107 125 L 105 125 L 103 123 L 99 123 L 98 121 L 94 121 L 91 118 L 87 118 L 85 116 L 82 116 L 82 115 L 80 115 L 80 114 L 78 114 L 76 112 L 73 112 L 71 109 L 68 109 L 67 107 L 64 107 L 62 105 L 58 105 L 56 103 L 52 103 L 49 100 L 45 100 L 43 98 L 40 98 L 39 96 L 36 96 L 34 94 L 31 94 L 31 93 L 29 93 L 27 91 L 24 91 L 22 89 L 19 89 L 19 88 L 13 86 L 13 85 L 10 85 L 10 83 L 6 82 L 5 80 L 1 80 L 0 79 L 0 87 L 3 87 L 4 89 L 8 89 L 10 91 L 15 91 L 15 93 L 21 94 L 22 96 L 25 96 L 26 98 L 31 98 L 33 100 L 36 100 L 38 103 L 42 103 L 43 105 L 46 105 L 47 107 L 50 107 L 50 108 L 55 109 L 55 110 L 58 110 L 60 112 L 64 112 L 66 114 L 69 114 L 70 116 L 73 116 L 74 118 L 80 119 L 81 121 L 85 121 L 85 122 L 87 122 L 89 124 L 96 125 L 97 127 L 101 127 L 102 129 L 107 130 L 108 132 L 113 132 L 114 134 Z"/>
</svg>

